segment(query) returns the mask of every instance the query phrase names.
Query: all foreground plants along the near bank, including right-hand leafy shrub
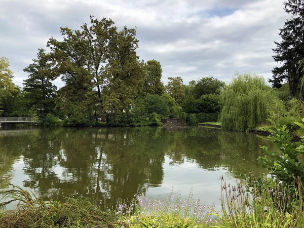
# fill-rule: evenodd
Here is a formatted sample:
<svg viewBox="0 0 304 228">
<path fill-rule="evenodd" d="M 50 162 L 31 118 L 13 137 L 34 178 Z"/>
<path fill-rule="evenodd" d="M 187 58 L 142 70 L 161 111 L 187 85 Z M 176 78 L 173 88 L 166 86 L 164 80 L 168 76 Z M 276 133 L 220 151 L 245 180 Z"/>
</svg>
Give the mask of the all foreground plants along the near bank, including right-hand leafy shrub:
<svg viewBox="0 0 304 228">
<path fill-rule="evenodd" d="M 304 130 L 304 119 L 296 122 Z M 243 176 L 235 186 L 220 177 L 221 212 L 172 192 L 166 199 L 134 195 L 129 202 L 104 212 L 90 199 L 67 198 L 64 202 L 43 201 L 20 187 L 3 191 L 2 207 L 17 202 L 14 210 L 0 213 L 1 227 L 302 227 L 304 225 L 304 139 L 292 142 L 289 129 L 272 121 L 270 137 L 279 150 L 262 146 L 259 162 L 271 177 Z"/>
</svg>

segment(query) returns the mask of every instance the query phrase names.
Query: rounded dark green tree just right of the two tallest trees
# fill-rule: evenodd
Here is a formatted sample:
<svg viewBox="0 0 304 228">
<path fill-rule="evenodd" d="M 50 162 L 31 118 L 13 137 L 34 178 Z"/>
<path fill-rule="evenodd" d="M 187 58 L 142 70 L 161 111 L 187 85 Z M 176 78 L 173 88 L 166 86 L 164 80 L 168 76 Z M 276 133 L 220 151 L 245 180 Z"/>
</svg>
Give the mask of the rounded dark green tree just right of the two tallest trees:
<svg viewBox="0 0 304 228">
<path fill-rule="evenodd" d="M 165 87 L 162 80 L 163 69 L 161 63 L 156 60 L 149 60 L 146 63 L 146 75 L 144 78 L 145 93 L 162 95 Z"/>
</svg>

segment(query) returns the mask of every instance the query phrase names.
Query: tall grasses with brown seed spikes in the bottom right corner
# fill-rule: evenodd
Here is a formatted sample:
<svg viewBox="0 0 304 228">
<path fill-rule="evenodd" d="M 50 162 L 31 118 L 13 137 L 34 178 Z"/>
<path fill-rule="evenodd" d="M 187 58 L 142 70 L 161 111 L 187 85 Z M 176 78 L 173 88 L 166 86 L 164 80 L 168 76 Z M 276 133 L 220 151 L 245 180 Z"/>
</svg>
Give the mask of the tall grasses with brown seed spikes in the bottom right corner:
<svg viewBox="0 0 304 228">
<path fill-rule="evenodd" d="M 295 181 L 295 198 L 291 199 L 278 181 L 266 177 L 256 180 L 251 175 L 247 180 L 245 185 L 230 185 L 221 178 L 223 217 L 215 227 L 303 227 L 304 189 L 300 182 Z"/>
</svg>

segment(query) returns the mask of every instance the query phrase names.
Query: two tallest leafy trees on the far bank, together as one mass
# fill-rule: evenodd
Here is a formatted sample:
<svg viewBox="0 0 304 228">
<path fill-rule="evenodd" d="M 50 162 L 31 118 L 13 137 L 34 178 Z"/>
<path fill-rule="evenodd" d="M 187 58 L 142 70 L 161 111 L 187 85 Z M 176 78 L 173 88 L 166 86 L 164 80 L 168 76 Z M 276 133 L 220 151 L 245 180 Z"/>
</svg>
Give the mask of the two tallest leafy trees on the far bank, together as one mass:
<svg viewBox="0 0 304 228">
<path fill-rule="evenodd" d="M 109 113 L 123 113 L 143 83 L 136 30 L 117 31 L 110 19 L 90 19 L 90 26 L 80 30 L 61 28 L 63 41 L 48 42 L 56 72 L 65 82 L 58 107 L 76 122 L 102 113 L 110 121 Z"/>
</svg>

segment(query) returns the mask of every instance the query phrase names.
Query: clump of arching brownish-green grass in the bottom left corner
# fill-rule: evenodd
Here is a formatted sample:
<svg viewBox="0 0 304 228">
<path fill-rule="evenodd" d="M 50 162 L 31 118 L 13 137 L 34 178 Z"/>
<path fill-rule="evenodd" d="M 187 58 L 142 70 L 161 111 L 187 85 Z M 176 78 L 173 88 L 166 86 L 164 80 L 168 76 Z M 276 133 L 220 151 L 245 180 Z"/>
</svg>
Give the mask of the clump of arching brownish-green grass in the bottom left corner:
<svg viewBox="0 0 304 228">
<path fill-rule="evenodd" d="M 0 213 L 2 227 L 115 227 L 110 214 L 88 199 L 66 199 L 65 203 L 34 198 L 20 187 L 2 191 L 2 206 L 16 201 L 15 210 Z"/>
</svg>

